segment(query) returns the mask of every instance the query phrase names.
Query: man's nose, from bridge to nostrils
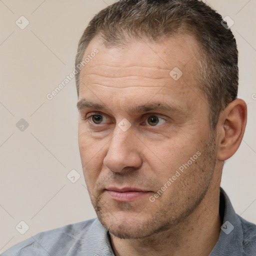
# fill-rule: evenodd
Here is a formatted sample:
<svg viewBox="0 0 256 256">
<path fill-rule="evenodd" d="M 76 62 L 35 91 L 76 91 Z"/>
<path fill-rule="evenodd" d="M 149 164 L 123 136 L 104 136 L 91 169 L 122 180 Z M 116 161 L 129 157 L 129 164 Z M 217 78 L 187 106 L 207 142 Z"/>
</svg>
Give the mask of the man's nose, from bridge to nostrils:
<svg viewBox="0 0 256 256">
<path fill-rule="evenodd" d="M 123 131 L 116 126 L 103 164 L 113 172 L 122 172 L 127 167 L 138 168 L 142 163 L 138 141 L 132 127 Z"/>
</svg>

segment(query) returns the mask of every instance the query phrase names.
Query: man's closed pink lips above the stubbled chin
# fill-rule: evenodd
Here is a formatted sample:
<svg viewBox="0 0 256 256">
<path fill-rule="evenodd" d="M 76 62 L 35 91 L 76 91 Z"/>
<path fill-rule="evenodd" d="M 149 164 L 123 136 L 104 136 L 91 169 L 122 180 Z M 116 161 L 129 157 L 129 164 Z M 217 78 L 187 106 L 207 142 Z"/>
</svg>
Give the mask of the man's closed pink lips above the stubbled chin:
<svg viewBox="0 0 256 256">
<path fill-rule="evenodd" d="M 148 195 L 151 191 L 135 188 L 135 187 L 108 187 L 105 189 L 106 193 L 116 201 L 133 201 Z"/>
</svg>

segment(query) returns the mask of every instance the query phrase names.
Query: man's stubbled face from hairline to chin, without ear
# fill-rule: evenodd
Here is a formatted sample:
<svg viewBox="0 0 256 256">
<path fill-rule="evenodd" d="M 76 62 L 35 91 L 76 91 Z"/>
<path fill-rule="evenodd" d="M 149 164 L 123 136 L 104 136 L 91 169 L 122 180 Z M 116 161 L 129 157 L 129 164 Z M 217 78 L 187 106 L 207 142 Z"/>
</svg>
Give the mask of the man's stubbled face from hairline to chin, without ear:
<svg viewBox="0 0 256 256">
<path fill-rule="evenodd" d="M 83 59 L 94 48 L 78 99 L 85 182 L 113 235 L 145 237 L 182 221 L 211 185 L 216 149 L 207 100 L 194 78 L 198 48 L 189 35 L 125 49 L 94 38 Z"/>
</svg>

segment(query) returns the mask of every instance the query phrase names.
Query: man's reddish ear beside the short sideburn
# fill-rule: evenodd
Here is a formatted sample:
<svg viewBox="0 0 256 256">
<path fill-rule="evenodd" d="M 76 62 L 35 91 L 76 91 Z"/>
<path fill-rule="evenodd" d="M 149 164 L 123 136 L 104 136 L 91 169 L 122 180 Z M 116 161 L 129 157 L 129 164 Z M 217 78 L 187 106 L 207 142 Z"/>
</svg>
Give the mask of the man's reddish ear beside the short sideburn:
<svg viewBox="0 0 256 256">
<path fill-rule="evenodd" d="M 244 134 L 246 121 L 247 105 L 240 98 L 231 101 L 220 112 L 217 124 L 218 160 L 224 161 L 236 152 Z"/>
</svg>

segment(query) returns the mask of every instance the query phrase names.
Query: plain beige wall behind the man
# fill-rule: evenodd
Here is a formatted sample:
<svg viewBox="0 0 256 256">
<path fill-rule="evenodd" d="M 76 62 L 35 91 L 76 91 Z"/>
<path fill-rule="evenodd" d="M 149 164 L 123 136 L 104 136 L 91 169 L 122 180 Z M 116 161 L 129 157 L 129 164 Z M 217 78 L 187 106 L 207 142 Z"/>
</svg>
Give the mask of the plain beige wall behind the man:
<svg viewBox="0 0 256 256">
<path fill-rule="evenodd" d="M 0 251 L 37 232 L 96 216 L 79 158 L 74 78 L 51 100 L 46 94 L 72 71 L 88 21 L 112 2 L 0 0 Z M 224 165 L 222 187 L 236 212 L 256 222 L 256 0 L 208 3 L 234 20 L 239 97 L 248 104 L 244 138 Z M 21 15 L 29 21 L 24 29 Z M 22 120 L 16 127 L 21 118 L 27 128 Z M 75 183 L 66 177 L 72 169 L 80 174 Z M 24 234 L 21 220 L 29 226 Z"/>
</svg>

